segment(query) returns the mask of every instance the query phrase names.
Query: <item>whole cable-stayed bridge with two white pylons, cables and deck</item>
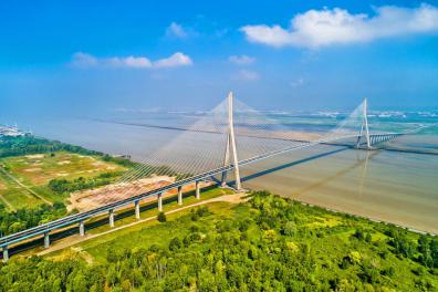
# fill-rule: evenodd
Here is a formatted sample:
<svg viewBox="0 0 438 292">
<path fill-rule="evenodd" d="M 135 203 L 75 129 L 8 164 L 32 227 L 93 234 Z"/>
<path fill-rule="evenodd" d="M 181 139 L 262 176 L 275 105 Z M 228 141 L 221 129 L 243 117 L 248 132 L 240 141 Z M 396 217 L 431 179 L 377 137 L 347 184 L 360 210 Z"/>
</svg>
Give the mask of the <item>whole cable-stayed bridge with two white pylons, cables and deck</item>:
<svg viewBox="0 0 438 292">
<path fill-rule="evenodd" d="M 181 204 L 182 187 L 190 184 L 195 184 L 195 196 L 199 199 L 201 181 L 215 178 L 226 186 L 229 174 L 233 174 L 233 187 L 240 190 L 240 167 L 255 161 L 321 144 L 371 150 L 385 142 L 420 129 L 423 128 L 404 133 L 371 133 L 365 100 L 326 133 L 290 131 L 283 124 L 234 100 L 230 93 L 222 103 L 198 118 L 184 133 L 157 152 L 150 153 L 138 167 L 124 175 L 117 182 L 123 186 L 117 196 L 107 196 L 96 208 L 0 238 L 3 260 L 9 259 L 9 247 L 31 238 L 43 236 L 44 247 L 48 248 L 50 232 L 69 226 L 79 225 L 79 232 L 84 236 L 85 221 L 103 213 L 108 213 L 108 223 L 114 227 L 115 210 L 129 205 L 134 205 L 135 216 L 139 219 L 140 200 L 146 198 L 156 198 L 158 210 L 161 211 L 164 194 L 169 190 L 177 190 L 178 204 Z M 138 180 L 156 176 L 175 179 L 153 190 L 143 191 L 138 187 Z"/>
</svg>

